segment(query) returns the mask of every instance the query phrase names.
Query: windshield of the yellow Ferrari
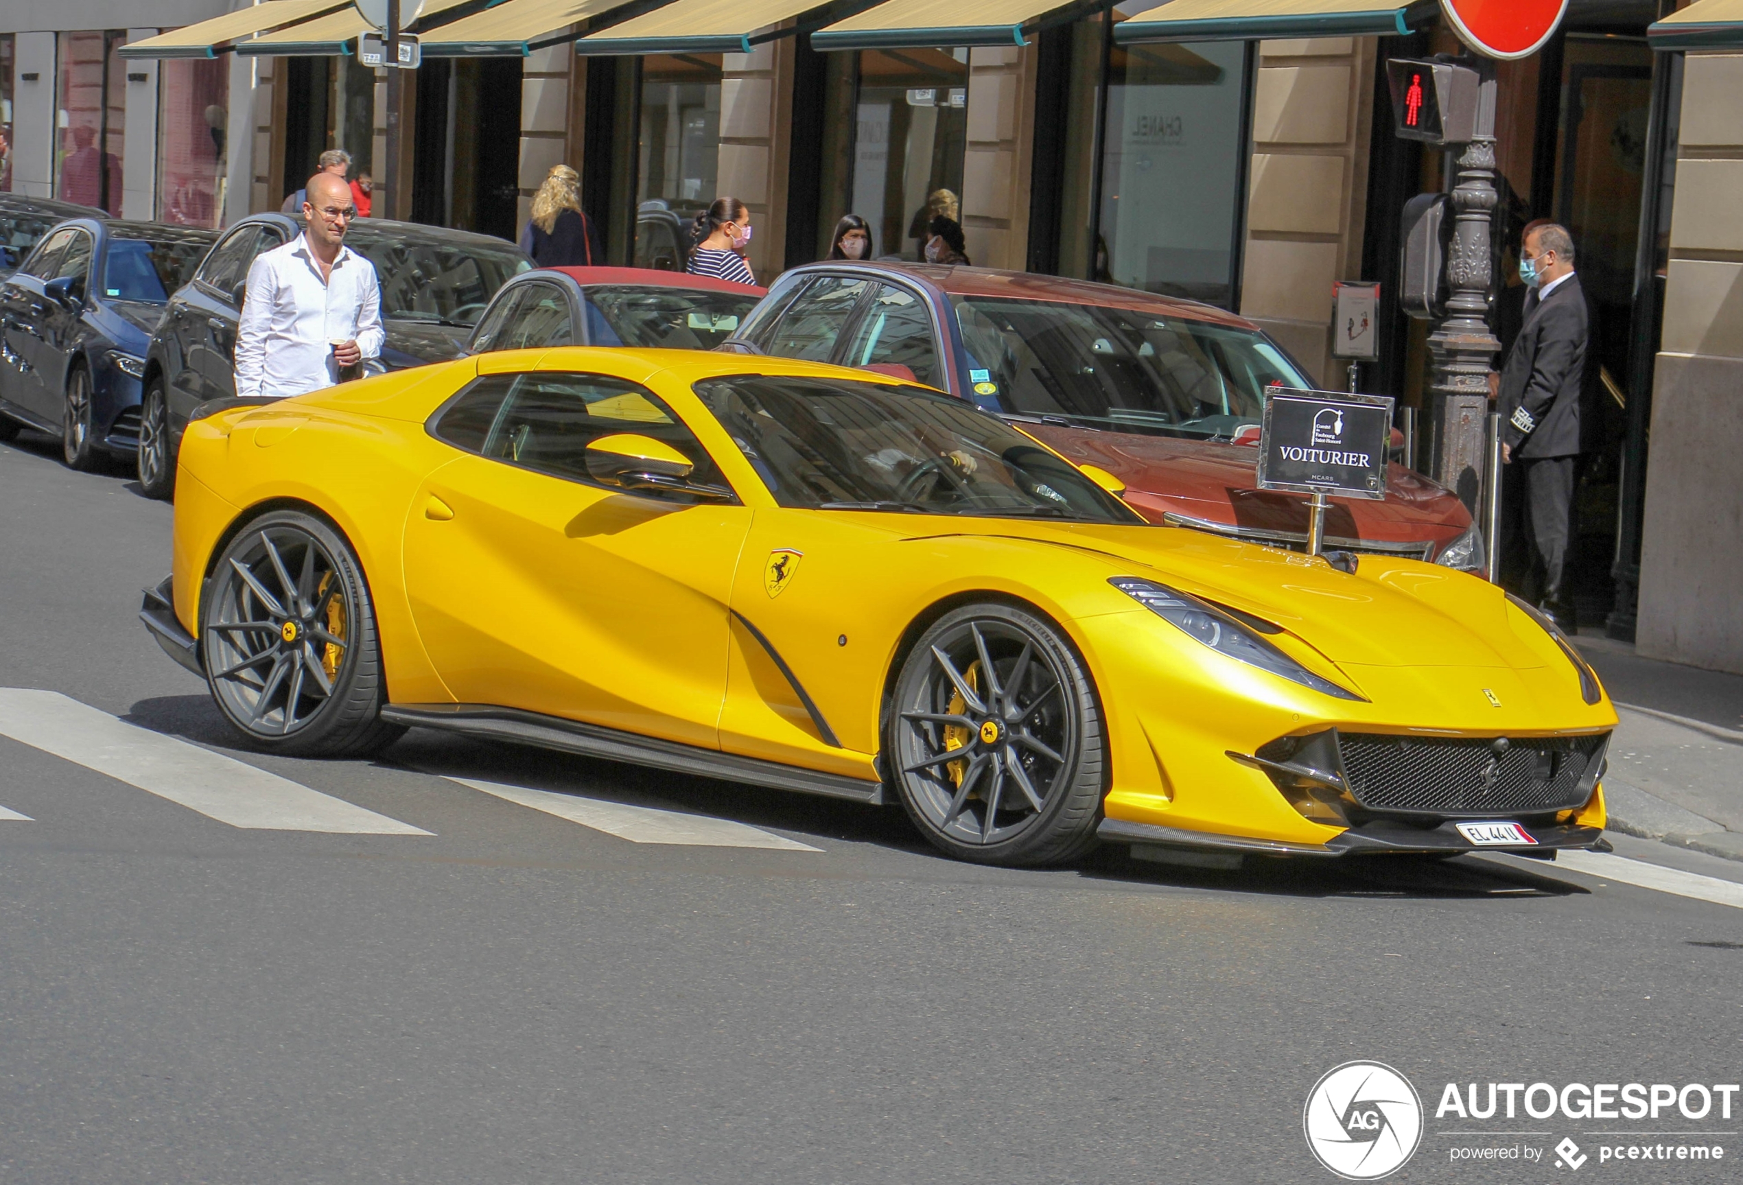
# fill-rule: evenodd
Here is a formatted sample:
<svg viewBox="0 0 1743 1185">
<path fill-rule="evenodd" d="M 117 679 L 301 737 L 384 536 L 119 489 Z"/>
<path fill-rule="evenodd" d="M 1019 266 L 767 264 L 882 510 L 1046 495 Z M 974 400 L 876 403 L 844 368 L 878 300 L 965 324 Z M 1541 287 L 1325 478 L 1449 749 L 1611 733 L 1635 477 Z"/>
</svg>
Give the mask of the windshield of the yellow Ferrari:
<svg viewBox="0 0 1743 1185">
<path fill-rule="evenodd" d="M 737 375 L 695 392 L 781 505 L 1138 521 L 1004 420 L 920 387 Z"/>
</svg>

